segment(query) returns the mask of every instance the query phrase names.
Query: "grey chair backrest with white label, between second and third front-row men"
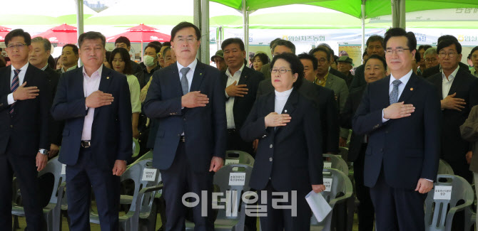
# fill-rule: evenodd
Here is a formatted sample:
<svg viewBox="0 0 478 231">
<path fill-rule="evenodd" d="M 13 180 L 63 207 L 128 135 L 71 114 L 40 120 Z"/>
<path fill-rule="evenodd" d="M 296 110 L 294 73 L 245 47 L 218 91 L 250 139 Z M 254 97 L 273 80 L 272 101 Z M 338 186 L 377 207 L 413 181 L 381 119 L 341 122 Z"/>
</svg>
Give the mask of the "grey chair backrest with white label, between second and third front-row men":
<svg viewBox="0 0 478 231">
<path fill-rule="evenodd" d="M 147 170 L 156 170 L 156 174 L 151 176 L 152 181 L 143 179 L 143 174 Z M 142 188 L 158 186 L 161 183 L 161 174 L 159 173 L 158 169 L 152 167 L 152 160 L 146 159 L 143 161 L 137 161 L 129 166 L 123 175 L 121 175 L 121 181 L 126 180 L 134 181 L 133 200 L 131 201 L 131 207 L 129 210 L 134 212 L 136 203 L 143 201 L 143 204 L 141 205 L 141 212 L 143 212 L 143 210 L 150 211 L 155 192 L 145 194 L 145 198 L 143 198 L 143 200 L 142 198 L 138 198 L 138 193 Z"/>
</svg>

